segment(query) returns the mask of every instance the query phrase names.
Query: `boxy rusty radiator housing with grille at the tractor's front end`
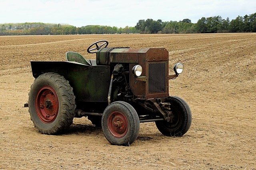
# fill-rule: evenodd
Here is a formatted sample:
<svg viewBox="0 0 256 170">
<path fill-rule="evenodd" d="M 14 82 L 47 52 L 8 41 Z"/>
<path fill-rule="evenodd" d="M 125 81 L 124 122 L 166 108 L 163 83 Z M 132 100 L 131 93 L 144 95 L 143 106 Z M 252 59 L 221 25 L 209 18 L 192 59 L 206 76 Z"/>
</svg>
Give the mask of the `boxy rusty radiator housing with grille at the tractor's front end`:
<svg viewBox="0 0 256 170">
<path fill-rule="evenodd" d="M 130 72 L 130 87 L 135 96 L 141 99 L 169 96 L 168 51 L 159 48 L 144 48 L 139 51 L 138 64 L 142 66 L 142 78 L 134 78 Z M 136 63 L 131 63 L 129 69 Z M 141 79 L 141 81 L 140 81 Z"/>
</svg>

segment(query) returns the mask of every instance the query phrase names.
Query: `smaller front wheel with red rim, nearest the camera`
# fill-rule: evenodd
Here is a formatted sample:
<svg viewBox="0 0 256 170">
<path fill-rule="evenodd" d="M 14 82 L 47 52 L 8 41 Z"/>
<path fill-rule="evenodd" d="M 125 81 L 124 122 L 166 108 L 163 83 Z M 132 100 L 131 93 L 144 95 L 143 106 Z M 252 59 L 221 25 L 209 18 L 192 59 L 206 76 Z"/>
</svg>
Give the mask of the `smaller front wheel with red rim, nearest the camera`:
<svg viewBox="0 0 256 170">
<path fill-rule="evenodd" d="M 130 146 L 138 137 L 140 121 L 128 103 L 113 102 L 103 112 L 102 131 L 112 145 Z"/>
</svg>

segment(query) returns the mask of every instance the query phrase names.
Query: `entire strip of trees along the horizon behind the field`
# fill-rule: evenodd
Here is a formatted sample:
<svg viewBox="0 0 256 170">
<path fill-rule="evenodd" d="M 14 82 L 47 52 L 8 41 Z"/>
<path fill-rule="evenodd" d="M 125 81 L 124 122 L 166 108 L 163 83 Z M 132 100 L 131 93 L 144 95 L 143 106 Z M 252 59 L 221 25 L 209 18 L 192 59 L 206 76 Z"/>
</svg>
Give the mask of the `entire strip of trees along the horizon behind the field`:
<svg viewBox="0 0 256 170">
<path fill-rule="evenodd" d="M 238 16 L 230 21 L 221 16 L 202 17 L 197 23 L 182 21 L 139 20 L 134 27 L 86 25 L 75 27 L 55 23 L 2 23 L 0 35 L 75 35 L 75 34 L 129 34 L 129 33 L 237 33 L 256 32 L 256 13 Z"/>
</svg>

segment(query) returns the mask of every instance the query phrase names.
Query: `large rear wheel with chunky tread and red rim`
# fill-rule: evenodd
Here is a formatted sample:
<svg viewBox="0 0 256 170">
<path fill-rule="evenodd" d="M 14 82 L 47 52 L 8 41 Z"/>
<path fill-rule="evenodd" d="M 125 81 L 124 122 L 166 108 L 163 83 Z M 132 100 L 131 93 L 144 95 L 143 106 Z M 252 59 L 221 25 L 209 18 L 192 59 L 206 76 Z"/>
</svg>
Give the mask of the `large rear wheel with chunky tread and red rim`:
<svg viewBox="0 0 256 170">
<path fill-rule="evenodd" d="M 60 74 L 41 74 L 30 87 L 28 107 L 30 118 L 41 133 L 58 134 L 73 123 L 73 88 Z"/>
</svg>

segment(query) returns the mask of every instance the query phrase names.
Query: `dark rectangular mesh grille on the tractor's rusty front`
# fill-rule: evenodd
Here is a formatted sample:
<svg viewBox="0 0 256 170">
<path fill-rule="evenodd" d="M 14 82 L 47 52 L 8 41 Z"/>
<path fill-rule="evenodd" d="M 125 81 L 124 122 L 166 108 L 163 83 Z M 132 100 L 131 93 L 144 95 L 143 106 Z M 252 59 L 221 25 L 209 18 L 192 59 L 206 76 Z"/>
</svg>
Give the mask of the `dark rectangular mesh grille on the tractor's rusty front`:
<svg viewBox="0 0 256 170">
<path fill-rule="evenodd" d="M 148 93 L 166 92 L 166 62 L 148 63 Z"/>
</svg>

